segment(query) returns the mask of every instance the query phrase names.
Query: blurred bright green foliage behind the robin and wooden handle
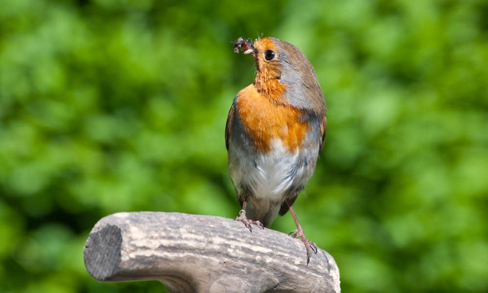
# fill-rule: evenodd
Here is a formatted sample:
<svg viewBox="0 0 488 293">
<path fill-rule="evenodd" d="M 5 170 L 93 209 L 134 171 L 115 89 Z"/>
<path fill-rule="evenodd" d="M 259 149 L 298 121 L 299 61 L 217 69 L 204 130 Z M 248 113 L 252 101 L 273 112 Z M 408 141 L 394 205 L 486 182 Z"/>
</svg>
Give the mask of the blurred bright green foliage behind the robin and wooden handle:
<svg viewBox="0 0 488 293">
<path fill-rule="evenodd" d="M 162 290 L 91 279 L 85 240 L 117 211 L 237 215 L 224 126 L 254 63 L 232 41 L 261 34 L 324 91 L 295 207 L 343 292 L 487 292 L 482 0 L 1 1 L 0 291 Z"/>
</svg>

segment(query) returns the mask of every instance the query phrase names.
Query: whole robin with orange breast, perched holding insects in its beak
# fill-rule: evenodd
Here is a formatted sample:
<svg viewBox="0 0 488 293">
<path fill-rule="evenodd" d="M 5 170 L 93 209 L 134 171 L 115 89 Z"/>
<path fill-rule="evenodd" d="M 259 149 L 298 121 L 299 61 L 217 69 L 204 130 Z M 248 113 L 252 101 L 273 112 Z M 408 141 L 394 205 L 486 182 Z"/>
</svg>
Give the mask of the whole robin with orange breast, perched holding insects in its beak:
<svg viewBox="0 0 488 293">
<path fill-rule="evenodd" d="M 297 224 L 290 234 L 305 244 L 308 265 L 317 245 L 305 237 L 292 206 L 322 151 L 324 96 L 312 64 L 294 45 L 239 38 L 239 51 L 254 57 L 256 76 L 234 98 L 225 127 L 229 173 L 242 206 L 234 220 L 252 232 L 252 225 L 269 228 L 290 210 Z"/>
</svg>

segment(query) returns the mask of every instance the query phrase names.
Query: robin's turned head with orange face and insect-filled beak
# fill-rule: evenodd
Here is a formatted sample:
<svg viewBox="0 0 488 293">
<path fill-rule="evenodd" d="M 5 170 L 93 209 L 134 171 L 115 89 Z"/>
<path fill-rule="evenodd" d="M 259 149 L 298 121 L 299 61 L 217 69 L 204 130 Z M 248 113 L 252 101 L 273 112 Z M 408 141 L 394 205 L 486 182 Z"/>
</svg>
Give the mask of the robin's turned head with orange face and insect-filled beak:
<svg viewBox="0 0 488 293">
<path fill-rule="evenodd" d="M 234 52 L 254 57 L 254 85 L 261 94 L 278 103 L 300 108 L 321 107 L 323 104 L 314 68 L 296 46 L 272 37 L 254 42 L 239 38 L 234 42 Z"/>
</svg>

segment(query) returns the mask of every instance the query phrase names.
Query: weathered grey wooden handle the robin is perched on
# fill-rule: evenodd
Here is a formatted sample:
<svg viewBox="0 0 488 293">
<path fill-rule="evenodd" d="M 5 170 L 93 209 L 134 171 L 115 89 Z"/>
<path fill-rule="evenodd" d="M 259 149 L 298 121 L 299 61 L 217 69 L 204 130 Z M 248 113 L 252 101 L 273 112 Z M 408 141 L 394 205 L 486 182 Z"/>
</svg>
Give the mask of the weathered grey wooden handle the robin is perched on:
<svg viewBox="0 0 488 293">
<path fill-rule="evenodd" d="M 170 292 L 339 293 L 334 258 L 284 233 L 213 216 L 121 212 L 101 219 L 85 244 L 100 281 L 160 280 Z"/>
</svg>

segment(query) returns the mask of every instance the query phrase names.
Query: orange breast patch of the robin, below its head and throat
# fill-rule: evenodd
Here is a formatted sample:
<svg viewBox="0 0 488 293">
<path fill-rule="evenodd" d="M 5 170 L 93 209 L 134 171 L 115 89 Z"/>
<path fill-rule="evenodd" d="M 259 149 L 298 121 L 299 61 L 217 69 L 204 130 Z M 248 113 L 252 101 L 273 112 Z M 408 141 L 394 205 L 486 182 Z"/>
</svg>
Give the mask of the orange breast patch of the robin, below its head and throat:
<svg viewBox="0 0 488 293">
<path fill-rule="evenodd" d="M 308 130 L 308 123 L 300 122 L 300 109 L 277 104 L 276 99 L 259 94 L 253 84 L 239 92 L 237 112 L 254 139 L 256 150 L 262 152 L 271 150 L 274 139 L 294 151 L 301 146 Z"/>
</svg>

